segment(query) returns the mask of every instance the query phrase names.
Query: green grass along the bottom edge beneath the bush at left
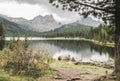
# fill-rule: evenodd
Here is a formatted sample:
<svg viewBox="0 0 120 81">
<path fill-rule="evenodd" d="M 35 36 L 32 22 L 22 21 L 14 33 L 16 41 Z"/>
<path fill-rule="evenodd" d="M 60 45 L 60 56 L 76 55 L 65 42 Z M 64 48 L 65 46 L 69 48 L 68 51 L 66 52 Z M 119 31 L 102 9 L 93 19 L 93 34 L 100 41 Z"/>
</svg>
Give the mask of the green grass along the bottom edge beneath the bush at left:
<svg viewBox="0 0 120 81">
<path fill-rule="evenodd" d="M 46 71 L 47 74 L 43 77 L 38 78 L 38 81 L 52 81 L 50 78 L 55 75 L 52 71 Z M 35 79 L 31 77 L 25 76 L 17 76 L 17 75 L 10 75 L 4 70 L 0 69 L 0 81 L 35 81 Z"/>
</svg>

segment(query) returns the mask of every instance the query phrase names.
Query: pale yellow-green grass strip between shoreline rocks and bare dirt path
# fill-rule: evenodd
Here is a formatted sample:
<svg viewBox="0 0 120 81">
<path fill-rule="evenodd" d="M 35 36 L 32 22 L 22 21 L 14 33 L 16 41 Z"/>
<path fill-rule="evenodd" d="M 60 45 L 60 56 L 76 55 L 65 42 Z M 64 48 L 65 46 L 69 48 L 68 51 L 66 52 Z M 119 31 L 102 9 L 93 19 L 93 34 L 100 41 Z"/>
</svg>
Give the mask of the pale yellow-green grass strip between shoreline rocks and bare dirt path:
<svg viewBox="0 0 120 81">
<path fill-rule="evenodd" d="M 89 72 L 89 74 L 91 75 L 105 75 L 105 72 L 107 71 L 108 74 L 112 73 L 112 70 L 110 69 L 105 69 L 102 67 L 97 67 L 94 65 L 73 65 L 73 64 L 67 64 L 63 61 L 55 61 L 51 64 L 52 68 L 57 68 L 57 69 L 64 69 L 64 70 L 72 70 L 72 69 L 76 69 L 79 71 L 79 73 L 85 73 L 85 72 Z"/>
</svg>

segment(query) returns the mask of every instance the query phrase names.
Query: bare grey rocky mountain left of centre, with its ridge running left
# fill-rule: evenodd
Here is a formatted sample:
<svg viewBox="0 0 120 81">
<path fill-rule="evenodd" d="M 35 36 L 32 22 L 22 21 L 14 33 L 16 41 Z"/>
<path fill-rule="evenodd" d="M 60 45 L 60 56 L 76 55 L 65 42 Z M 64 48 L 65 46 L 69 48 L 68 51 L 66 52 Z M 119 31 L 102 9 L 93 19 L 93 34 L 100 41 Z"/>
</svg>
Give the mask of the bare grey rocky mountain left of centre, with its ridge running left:
<svg viewBox="0 0 120 81">
<path fill-rule="evenodd" d="M 52 15 L 46 15 L 46 16 L 39 15 L 32 20 L 27 20 L 24 18 L 12 18 L 4 15 L 0 15 L 0 17 L 12 21 L 16 24 L 20 24 L 22 26 L 22 29 L 34 30 L 36 32 L 50 31 L 59 27 L 59 23 L 57 23 L 54 20 Z"/>
</svg>

